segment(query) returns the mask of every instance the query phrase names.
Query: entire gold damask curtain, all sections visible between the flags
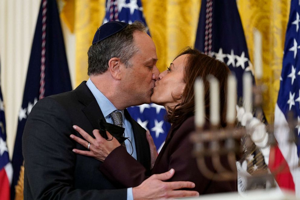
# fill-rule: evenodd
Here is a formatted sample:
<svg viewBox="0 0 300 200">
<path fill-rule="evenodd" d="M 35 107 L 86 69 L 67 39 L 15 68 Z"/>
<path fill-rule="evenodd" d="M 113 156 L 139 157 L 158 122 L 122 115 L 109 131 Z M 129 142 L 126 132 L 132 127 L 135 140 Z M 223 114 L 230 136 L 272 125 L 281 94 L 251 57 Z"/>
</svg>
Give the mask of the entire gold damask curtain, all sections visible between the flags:
<svg viewBox="0 0 300 200">
<path fill-rule="evenodd" d="M 60 0 L 62 20 L 76 35 L 76 86 L 87 80 L 87 50 L 102 24 L 105 0 Z M 217 1 L 214 1 L 217 3 Z M 155 42 L 160 71 L 196 38 L 201 0 L 142 0 L 146 23 Z M 253 28 L 263 35 L 263 93 L 266 118 L 273 122 L 290 0 L 237 0 L 250 59 L 253 59 Z M 255 67 L 255 66 L 254 66 Z"/>
</svg>

